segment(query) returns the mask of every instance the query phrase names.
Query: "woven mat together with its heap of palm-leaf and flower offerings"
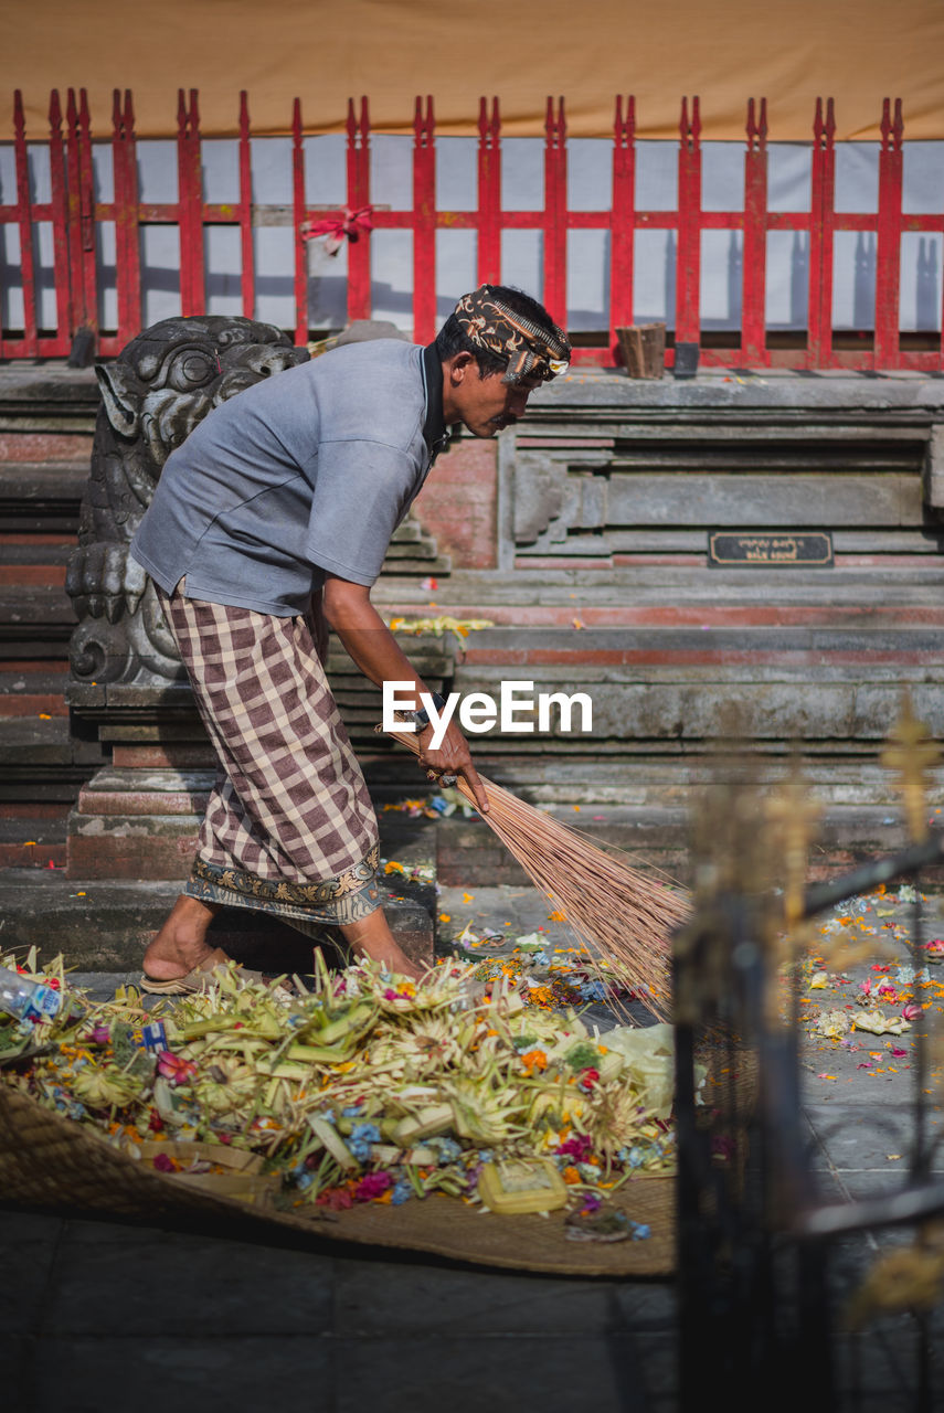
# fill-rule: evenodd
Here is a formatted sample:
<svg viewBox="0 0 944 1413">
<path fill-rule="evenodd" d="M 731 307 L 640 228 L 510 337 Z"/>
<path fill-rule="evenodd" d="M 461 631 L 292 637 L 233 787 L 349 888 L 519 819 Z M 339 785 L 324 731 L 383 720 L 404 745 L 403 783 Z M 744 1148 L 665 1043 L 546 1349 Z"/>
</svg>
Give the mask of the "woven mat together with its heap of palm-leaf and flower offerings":
<svg viewBox="0 0 944 1413">
<path fill-rule="evenodd" d="M 212 1201 L 490 1265 L 670 1270 L 670 1029 L 602 1044 L 507 983 L 482 996 L 473 972 L 319 961 L 290 996 L 232 966 L 144 1012 L 130 988 L 92 1002 L 57 961 L 57 1016 L 0 1016 L 4 1200 Z"/>
</svg>

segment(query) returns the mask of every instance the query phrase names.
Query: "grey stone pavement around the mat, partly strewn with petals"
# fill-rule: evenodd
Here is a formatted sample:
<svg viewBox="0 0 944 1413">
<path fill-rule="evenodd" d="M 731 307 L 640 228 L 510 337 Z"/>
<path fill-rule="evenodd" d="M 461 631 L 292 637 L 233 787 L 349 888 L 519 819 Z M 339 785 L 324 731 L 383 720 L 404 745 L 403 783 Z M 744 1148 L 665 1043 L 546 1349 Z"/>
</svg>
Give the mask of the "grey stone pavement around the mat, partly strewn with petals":
<svg viewBox="0 0 944 1413">
<path fill-rule="evenodd" d="M 927 940 L 944 935 L 941 899 L 930 897 Z M 512 940 L 564 927 L 533 889 L 442 889 L 441 945 L 468 924 Z M 839 923 L 838 918 L 848 918 Z M 903 1005 L 944 1006 L 944 966 L 928 983 L 902 981 L 910 904 L 872 897 L 817 924 L 866 942 L 866 954 L 803 974 L 804 1118 L 824 1200 L 885 1191 L 907 1163 L 914 1030 L 876 1036 L 815 1033 L 821 1012 L 846 1016 Z M 875 958 L 875 959 L 873 959 Z M 842 969 L 845 966 L 845 969 Z M 873 966 L 887 971 L 876 972 Z M 822 975 L 820 975 L 822 974 Z M 136 974 L 78 975 L 107 992 Z M 893 986 L 873 1007 L 862 982 Z M 914 1000 L 904 1000 L 910 993 Z M 601 1029 L 612 1023 L 598 1010 Z M 920 1024 L 924 1022 L 916 1022 Z M 842 1022 L 834 1022 L 842 1029 Z M 903 1053 L 897 1053 L 903 1051 Z M 868 1068 L 866 1068 L 868 1067 Z M 940 1068 L 940 1065 L 937 1067 Z M 930 1129 L 941 1132 L 937 1071 L 928 1078 Z M 944 1154 L 936 1173 L 944 1181 Z M 835 1243 L 834 1286 L 846 1299 L 876 1252 L 906 1234 L 876 1232 Z M 414 1413 L 447 1403 L 455 1413 L 595 1413 L 678 1406 L 677 1300 L 671 1282 L 575 1280 L 461 1267 L 363 1248 L 293 1248 L 294 1235 L 243 1241 L 206 1229 L 141 1226 L 0 1211 L 0 1383 L 8 1413 L 213 1413 L 298 1403 L 321 1413 Z M 938 1348 L 944 1335 L 936 1314 Z M 845 1407 L 909 1409 L 913 1323 L 896 1314 L 842 1337 Z M 813 1373 L 813 1371 L 811 1371 Z M 859 1390 L 858 1402 L 855 1390 Z M 936 1389 L 944 1399 L 944 1371 Z M 760 1390 L 759 1390 L 760 1392 Z M 811 1407 L 817 1407 L 811 1388 Z"/>
</svg>

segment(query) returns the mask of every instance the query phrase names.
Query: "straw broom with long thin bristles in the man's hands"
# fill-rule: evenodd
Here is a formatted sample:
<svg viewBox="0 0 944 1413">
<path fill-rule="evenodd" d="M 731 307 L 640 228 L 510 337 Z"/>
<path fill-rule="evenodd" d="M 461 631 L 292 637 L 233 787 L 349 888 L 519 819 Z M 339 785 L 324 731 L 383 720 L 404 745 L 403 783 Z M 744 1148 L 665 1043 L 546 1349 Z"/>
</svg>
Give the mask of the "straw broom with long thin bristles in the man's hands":
<svg viewBox="0 0 944 1413">
<path fill-rule="evenodd" d="M 380 728 L 377 728 L 380 731 Z M 420 755 L 413 732 L 387 735 Z M 654 1015 L 668 1012 L 670 934 L 690 916 L 688 896 L 671 892 L 667 875 L 642 873 L 603 852 L 565 824 L 541 814 L 509 790 L 479 776 L 489 801 L 485 822 L 533 883 L 558 904 L 591 954 Z M 462 777 L 459 793 L 475 805 Z"/>
</svg>

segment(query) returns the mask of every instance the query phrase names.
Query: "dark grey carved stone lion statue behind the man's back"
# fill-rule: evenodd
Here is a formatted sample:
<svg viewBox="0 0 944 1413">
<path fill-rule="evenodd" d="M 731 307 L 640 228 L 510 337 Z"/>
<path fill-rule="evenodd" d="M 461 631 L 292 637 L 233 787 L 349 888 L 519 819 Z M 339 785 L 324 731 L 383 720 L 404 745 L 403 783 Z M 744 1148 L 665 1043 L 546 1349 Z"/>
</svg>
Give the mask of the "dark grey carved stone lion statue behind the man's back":
<svg viewBox="0 0 944 1413">
<path fill-rule="evenodd" d="M 185 675 L 129 545 L 164 462 L 194 427 L 228 397 L 307 359 L 271 324 L 209 314 L 161 319 L 96 367 L 102 407 L 65 581 L 79 619 L 73 678 L 146 685 Z"/>
</svg>

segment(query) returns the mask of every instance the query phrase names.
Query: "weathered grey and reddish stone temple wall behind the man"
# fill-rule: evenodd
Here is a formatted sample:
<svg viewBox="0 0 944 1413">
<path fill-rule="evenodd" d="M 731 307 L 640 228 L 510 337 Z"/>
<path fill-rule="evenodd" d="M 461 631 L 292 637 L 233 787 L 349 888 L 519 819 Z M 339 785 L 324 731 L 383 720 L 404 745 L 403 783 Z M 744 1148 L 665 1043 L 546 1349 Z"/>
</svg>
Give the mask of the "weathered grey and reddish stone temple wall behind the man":
<svg viewBox="0 0 944 1413">
<path fill-rule="evenodd" d="M 212 779 L 185 682 L 66 670 L 98 407 L 90 372 L 0 373 L 0 859 L 175 877 Z M 878 752 L 903 685 L 944 735 L 943 507 L 938 377 L 581 370 L 497 442 L 458 438 L 374 601 L 407 625 L 492 625 L 404 636 L 431 685 L 592 698 L 586 733 L 478 736 L 490 777 L 677 865 L 691 793 L 732 736 L 766 777 L 797 749 L 827 807 L 825 866 L 900 839 Z M 421 793 L 373 731 L 379 694 L 339 647 L 329 670 L 379 801 Z M 473 859 L 506 876 L 486 834 L 448 821 L 441 876 Z"/>
</svg>

